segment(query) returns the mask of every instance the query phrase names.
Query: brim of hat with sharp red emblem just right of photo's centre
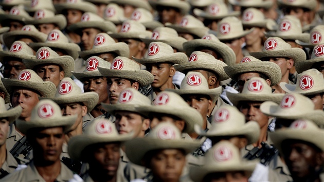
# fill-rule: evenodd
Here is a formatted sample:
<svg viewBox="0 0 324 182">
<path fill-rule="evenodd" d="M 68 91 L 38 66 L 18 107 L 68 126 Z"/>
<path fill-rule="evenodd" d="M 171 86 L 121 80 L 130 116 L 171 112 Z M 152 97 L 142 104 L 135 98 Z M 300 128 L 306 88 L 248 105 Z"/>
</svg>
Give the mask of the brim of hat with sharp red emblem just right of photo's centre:
<svg viewBox="0 0 324 182">
<path fill-rule="evenodd" d="M 213 102 L 216 102 L 217 99 L 222 94 L 222 87 L 219 86 L 217 88 L 210 88 L 204 90 L 195 90 L 195 89 L 165 89 L 166 91 L 174 92 L 178 95 L 186 95 L 186 94 L 200 94 L 200 95 L 208 95 Z"/>
</svg>

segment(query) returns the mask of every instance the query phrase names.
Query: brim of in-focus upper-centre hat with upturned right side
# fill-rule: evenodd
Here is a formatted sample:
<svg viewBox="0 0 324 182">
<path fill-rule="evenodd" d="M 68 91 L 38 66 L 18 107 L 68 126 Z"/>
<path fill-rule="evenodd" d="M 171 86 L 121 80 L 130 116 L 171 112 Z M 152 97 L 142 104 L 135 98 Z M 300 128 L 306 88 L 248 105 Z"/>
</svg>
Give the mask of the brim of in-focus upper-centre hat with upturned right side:
<svg viewBox="0 0 324 182">
<path fill-rule="evenodd" d="M 175 52 L 175 53 L 171 53 L 167 56 L 163 56 L 160 58 L 153 58 L 153 59 L 137 59 L 135 57 L 132 56 L 132 58 L 143 65 L 146 64 L 152 64 L 152 63 L 162 63 L 162 62 L 170 62 L 173 64 L 183 64 L 186 63 L 188 61 L 188 57 L 186 56 L 185 53 L 183 52 Z"/>
</svg>

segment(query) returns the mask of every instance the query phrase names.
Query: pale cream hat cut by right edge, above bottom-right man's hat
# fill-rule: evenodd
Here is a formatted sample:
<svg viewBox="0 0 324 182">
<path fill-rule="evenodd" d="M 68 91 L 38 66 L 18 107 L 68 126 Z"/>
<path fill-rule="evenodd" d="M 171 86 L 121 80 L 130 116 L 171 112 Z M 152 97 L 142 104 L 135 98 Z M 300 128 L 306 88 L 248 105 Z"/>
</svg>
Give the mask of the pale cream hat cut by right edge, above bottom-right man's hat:
<svg viewBox="0 0 324 182">
<path fill-rule="evenodd" d="M 324 112 L 314 110 L 311 99 L 295 93 L 285 94 L 281 103 L 273 101 L 263 102 L 260 111 L 267 115 L 281 119 L 309 119 L 318 125 L 323 125 Z"/>
</svg>

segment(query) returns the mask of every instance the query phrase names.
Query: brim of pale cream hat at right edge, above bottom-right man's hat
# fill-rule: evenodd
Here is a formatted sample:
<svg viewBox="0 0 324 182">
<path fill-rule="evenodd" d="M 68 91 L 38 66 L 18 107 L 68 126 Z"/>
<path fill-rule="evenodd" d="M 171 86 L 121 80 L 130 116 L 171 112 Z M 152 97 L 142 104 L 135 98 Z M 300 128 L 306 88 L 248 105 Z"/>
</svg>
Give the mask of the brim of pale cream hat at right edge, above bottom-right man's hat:
<svg viewBox="0 0 324 182">
<path fill-rule="evenodd" d="M 272 116 L 276 118 L 282 118 L 282 119 L 308 119 L 313 122 L 315 122 L 317 125 L 324 125 L 324 112 L 320 110 L 315 110 L 313 112 L 299 112 L 299 113 L 290 113 L 286 112 L 285 110 L 282 110 L 280 106 L 272 101 L 266 101 L 263 102 L 261 107 L 261 111 L 263 114 L 267 116 Z M 279 111 L 279 112 L 278 112 Z"/>
</svg>

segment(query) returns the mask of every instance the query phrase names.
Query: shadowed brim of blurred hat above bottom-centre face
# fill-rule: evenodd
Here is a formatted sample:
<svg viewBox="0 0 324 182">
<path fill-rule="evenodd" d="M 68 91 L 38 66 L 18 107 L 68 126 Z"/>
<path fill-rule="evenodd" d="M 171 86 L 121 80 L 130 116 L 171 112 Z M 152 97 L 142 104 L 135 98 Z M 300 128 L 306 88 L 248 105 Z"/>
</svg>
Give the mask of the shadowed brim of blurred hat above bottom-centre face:
<svg viewBox="0 0 324 182">
<path fill-rule="evenodd" d="M 140 147 L 138 147 L 140 146 Z M 126 155 L 131 162 L 142 166 L 142 159 L 149 151 L 158 149 L 183 149 L 185 154 L 189 154 L 200 146 L 199 141 L 162 140 L 157 138 L 134 138 L 125 142 L 127 148 Z"/>
</svg>

